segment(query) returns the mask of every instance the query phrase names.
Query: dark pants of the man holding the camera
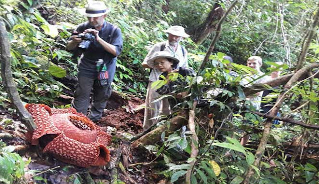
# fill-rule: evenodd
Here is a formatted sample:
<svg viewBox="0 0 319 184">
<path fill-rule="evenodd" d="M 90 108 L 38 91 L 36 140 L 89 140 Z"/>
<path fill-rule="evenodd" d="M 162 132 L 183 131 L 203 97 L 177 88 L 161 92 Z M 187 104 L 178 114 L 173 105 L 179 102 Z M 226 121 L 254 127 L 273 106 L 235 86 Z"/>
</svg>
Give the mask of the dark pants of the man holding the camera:
<svg viewBox="0 0 319 184">
<path fill-rule="evenodd" d="M 112 93 L 111 85 L 99 86 L 97 79 L 89 77 L 78 76 L 78 84 L 74 92 L 74 99 L 71 103 L 72 107 L 77 112 L 87 115 L 87 110 L 90 104 L 90 93 L 93 88 L 93 101 L 91 104 L 91 111 L 89 118 L 92 121 L 98 121 L 102 117 L 107 100 Z"/>
</svg>

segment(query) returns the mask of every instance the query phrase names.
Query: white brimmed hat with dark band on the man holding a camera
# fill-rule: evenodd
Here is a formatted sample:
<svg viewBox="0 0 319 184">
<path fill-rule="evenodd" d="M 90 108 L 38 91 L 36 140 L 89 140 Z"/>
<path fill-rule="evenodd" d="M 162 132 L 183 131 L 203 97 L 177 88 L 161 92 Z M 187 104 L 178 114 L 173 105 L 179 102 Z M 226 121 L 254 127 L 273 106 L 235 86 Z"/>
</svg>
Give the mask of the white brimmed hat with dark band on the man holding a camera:
<svg viewBox="0 0 319 184">
<path fill-rule="evenodd" d="M 85 5 L 85 8 L 80 8 L 79 11 L 80 14 L 87 17 L 98 17 L 110 12 L 110 9 L 103 1 L 91 0 Z"/>
</svg>

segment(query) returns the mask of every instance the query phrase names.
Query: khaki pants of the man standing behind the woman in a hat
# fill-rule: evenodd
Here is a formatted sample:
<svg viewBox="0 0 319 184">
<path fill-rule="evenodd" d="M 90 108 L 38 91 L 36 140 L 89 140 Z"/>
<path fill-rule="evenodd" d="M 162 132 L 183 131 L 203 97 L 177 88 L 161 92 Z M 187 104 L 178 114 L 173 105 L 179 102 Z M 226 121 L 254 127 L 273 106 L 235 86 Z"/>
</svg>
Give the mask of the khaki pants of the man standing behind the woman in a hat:
<svg viewBox="0 0 319 184">
<path fill-rule="evenodd" d="M 144 130 L 148 129 L 151 125 L 158 122 L 159 118 L 152 119 L 159 115 L 169 115 L 169 103 L 167 98 L 164 98 L 158 102 L 153 102 L 155 99 L 160 97 L 160 94 L 156 92 L 155 89 L 152 89 L 152 81 L 149 81 L 148 89 L 145 99 L 145 111 L 144 111 Z M 150 120 L 152 119 L 152 120 Z"/>
</svg>

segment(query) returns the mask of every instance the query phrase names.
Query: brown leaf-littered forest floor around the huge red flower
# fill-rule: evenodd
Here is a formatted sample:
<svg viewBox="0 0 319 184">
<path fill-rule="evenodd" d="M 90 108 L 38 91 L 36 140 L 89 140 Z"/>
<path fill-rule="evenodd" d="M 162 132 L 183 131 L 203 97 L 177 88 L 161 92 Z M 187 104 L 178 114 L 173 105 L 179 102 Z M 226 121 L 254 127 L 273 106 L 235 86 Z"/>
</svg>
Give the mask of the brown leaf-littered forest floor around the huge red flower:
<svg viewBox="0 0 319 184">
<path fill-rule="evenodd" d="M 71 99 L 72 97 L 62 95 L 54 105 L 69 104 Z M 151 162 L 154 156 L 149 153 L 134 155 L 130 151 L 129 140 L 143 131 L 143 104 L 142 99 L 113 92 L 102 119 L 97 123 L 112 135 L 112 144 L 109 147 L 112 156 L 116 155 L 117 148 L 122 147 L 120 167 L 116 167 L 117 174 L 107 166 L 80 168 L 43 154 L 42 147 L 31 146 L 25 140 L 26 128 L 17 120 L 18 117 L 5 109 L 0 109 L 0 139 L 7 146 L 14 146 L 15 152 L 23 160 L 31 158 L 30 164 L 24 169 L 27 184 L 109 184 L 114 181 L 114 177 L 126 184 L 165 184 L 161 180 L 162 176 L 154 169 L 155 165 L 143 164 Z M 36 172 L 30 172 L 32 170 Z"/>
</svg>

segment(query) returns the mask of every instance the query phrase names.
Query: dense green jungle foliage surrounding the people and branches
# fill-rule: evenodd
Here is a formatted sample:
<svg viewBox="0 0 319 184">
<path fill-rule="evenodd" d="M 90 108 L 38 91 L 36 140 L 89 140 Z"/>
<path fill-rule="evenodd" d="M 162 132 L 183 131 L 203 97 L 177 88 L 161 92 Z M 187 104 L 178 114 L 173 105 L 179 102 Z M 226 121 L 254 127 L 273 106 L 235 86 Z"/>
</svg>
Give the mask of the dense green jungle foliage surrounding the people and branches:
<svg viewBox="0 0 319 184">
<path fill-rule="evenodd" d="M 106 19 L 121 28 L 124 39 L 112 86 L 116 91 L 139 98 L 145 98 L 149 74 L 142 62 L 148 48 L 167 39 L 163 30 L 170 25 L 182 25 L 186 32 L 192 32 L 206 21 L 215 3 L 219 3 L 224 11 L 232 3 L 229 0 L 105 2 L 111 8 Z M 52 107 L 60 94 L 72 96 L 77 61 L 65 50 L 65 44 L 76 25 L 86 20 L 78 13 L 78 8 L 84 7 L 85 3 L 78 0 L 0 0 L 0 19 L 10 41 L 13 78 L 23 102 Z M 164 11 L 163 6 L 168 9 Z M 254 155 L 267 119 L 253 113 L 254 108 L 245 100 L 246 86 L 239 84 L 243 75 L 252 72 L 244 66 L 251 55 L 263 58 L 262 71 L 266 75 L 274 70 L 282 70 L 282 75 L 294 73 L 317 11 L 317 0 L 238 1 L 222 24 L 220 38 L 204 70 L 194 78 L 187 78 L 189 100 L 179 104 L 184 109 L 193 109 L 197 115 L 198 142 L 195 146 L 198 156 L 190 156 L 194 141 L 192 132 L 165 131 L 161 134 L 160 144 L 145 145 L 159 165 L 157 174 L 171 183 L 183 183 L 187 171 L 191 170 L 191 184 L 241 184 L 248 171 L 253 170 L 254 175 L 249 180 L 252 184 L 319 184 L 318 129 L 283 121 L 273 125 L 261 162 L 257 167 L 254 165 Z M 196 44 L 192 35 L 182 40 L 181 44 L 189 54 L 189 65 L 195 71 L 203 61 L 215 30 L 201 44 Z M 303 66 L 319 60 L 318 25 L 313 31 Z M 231 67 L 238 77 L 229 74 L 229 63 L 223 59 L 225 55 L 233 57 Z M 274 62 L 277 61 L 285 64 L 276 65 Z M 313 75 L 318 70 L 309 72 Z M 71 82 L 66 84 L 66 81 Z M 209 95 L 207 89 L 214 88 L 220 88 L 221 93 Z M 277 96 L 286 95 L 279 106 L 281 117 L 318 124 L 318 78 L 309 77 L 294 83 L 290 89 L 278 87 L 273 90 Z M 1 83 L 0 93 L 0 109 L 16 114 Z M 194 108 L 193 99 L 202 99 L 203 103 L 199 101 L 198 107 Z M 247 124 L 248 121 L 251 123 Z M 1 118 L 0 129 L 9 126 L 10 122 Z M 158 126 L 165 124 L 169 126 L 170 121 L 162 121 Z M 245 147 L 239 142 L 243 132 L 251 137 Z M 23 168 L 30 160 L 22 160 L 3 142 L 0 142 L 0 149 L 0 183 L 25 182 Z M 194 162 L 193 167 L 191 163 Z M 137 171 L 131 169 L 129 172 Z M 74 178 L 74 184 L 81 181 L 79 176 Z"/>
</svg>

